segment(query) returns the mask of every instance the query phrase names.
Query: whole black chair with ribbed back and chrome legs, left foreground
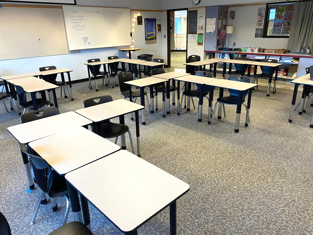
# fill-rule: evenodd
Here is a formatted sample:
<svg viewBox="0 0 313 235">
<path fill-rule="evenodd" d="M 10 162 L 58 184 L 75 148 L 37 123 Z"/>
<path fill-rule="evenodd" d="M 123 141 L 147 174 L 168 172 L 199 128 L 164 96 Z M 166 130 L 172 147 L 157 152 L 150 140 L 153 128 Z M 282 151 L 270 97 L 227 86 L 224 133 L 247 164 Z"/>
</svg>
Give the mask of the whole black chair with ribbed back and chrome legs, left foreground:
<svg viewBox="0 0 313 235">
<path fill-rule="evenodd" d="M 19 145 L 21 151 L 28 156 L 30 165 L 32 166 L 33 169 L 33 176 L 37 183 L 37 187 L 41 189 L 41 193 L 38 198 L 37 205 L 30 224 L 35 223 L 36 215 L 39 210 L 39 206 L 44 196 L 44 193 L 48 194 L 50 198 L 56 198 L 60 196 L 65 197 L 66 209 L 63 225 L 66 224 L 67 217 L 69 215 L 70 204 L 64 176 L 60 176 L 54 170 L 52 170 L 50 165 L 43 158 L 31 154 L 26 145 L 24 144 Z"/>
</svg>

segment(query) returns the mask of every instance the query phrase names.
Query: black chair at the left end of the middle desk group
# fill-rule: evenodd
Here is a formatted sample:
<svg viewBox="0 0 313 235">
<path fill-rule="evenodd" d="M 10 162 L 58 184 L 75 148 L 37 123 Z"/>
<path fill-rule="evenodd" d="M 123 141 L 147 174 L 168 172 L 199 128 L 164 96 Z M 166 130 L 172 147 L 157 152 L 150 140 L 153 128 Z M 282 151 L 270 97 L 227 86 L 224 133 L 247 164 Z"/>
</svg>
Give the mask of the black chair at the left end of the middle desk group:
<svg viewBox="0 0 313 235">
<path fill-rule="evenodd" d="M 118 77 L 118 83 L 120 86 L 120 90 L 121 90 L 121 94 L 124 96 L 123 99 L 129 98 L 129 85 L 126 84 L 126 81 L 133 81 L 133 75 L 131 72 L 127 72 L 127 73 L 120 73 L 117 75 Z M 146 96 L 147 99 L 147 104 L 149 105 L 149 100 L 148 100 L 148 95 L 147 92 L 144 92 L 144 95 Z M 140 91 L 138 90 L 131 90 L 131 97 L 134 103 L 136 103 L 137 97 L 140 97 Z"/>
</svg>

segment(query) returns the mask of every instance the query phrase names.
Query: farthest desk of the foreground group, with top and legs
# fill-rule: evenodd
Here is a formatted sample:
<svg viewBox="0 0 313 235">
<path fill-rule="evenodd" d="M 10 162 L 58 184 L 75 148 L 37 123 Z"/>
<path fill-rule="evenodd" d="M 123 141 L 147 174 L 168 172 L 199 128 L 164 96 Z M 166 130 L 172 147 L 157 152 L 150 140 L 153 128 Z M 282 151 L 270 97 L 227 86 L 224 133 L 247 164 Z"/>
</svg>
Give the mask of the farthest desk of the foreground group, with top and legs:
<svg viewBox="0 0 313 235">
<path fill-rule="evenodd" d="M 102 121 L 120 118 L 120 123 L 125 124 L 124 115 L 135 112 L 136 118 L 136 137 L 137 137 L 137 155 L 140 157 L 140 133 L 139 133 L 139 110 L 144 109 L 144 106 L 129 102 L 124 99 L 114 100 L 104 104 L 76 110 L 75 112 L 90 119 L 96 125 L 97 134 L 102 136 Z M 122 149 L 126 149 L 125 134 L 121 138 Z"/>
</svg>

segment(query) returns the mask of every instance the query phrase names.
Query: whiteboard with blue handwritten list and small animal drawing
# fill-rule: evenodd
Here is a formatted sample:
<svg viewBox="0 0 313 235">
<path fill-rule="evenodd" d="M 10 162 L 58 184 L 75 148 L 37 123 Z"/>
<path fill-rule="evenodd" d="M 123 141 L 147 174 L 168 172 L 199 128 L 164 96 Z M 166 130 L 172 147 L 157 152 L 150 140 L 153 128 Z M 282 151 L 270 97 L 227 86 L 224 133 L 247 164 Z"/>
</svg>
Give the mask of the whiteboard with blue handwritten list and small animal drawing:
<svg viewBox="0 0 313 235">
<path fill-rule="evenodd" d="M 132 44 L 131 9 L 63 6 L 69 50 Z"/>
</svg>

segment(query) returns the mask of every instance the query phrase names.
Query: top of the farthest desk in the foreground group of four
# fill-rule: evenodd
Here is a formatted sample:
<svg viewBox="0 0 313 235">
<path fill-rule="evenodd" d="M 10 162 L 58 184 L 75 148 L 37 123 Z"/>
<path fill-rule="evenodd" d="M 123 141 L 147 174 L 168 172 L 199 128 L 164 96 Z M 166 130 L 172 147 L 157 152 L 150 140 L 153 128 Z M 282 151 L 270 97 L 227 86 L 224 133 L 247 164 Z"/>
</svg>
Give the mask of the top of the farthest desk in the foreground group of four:
<svg viewBox="0 0 313 235">
<path fill-rule="evenodd" d="M 75 112 L 92 120 L 93 122 L 101 122 L 103 120 L 116 118 L 121 115 L 144 109 L 145 107 L 130 102 L 128 100 L 114 100 L 104 104 L 98 104 L 88 108 L 82 108 Z"/>
</svg>

